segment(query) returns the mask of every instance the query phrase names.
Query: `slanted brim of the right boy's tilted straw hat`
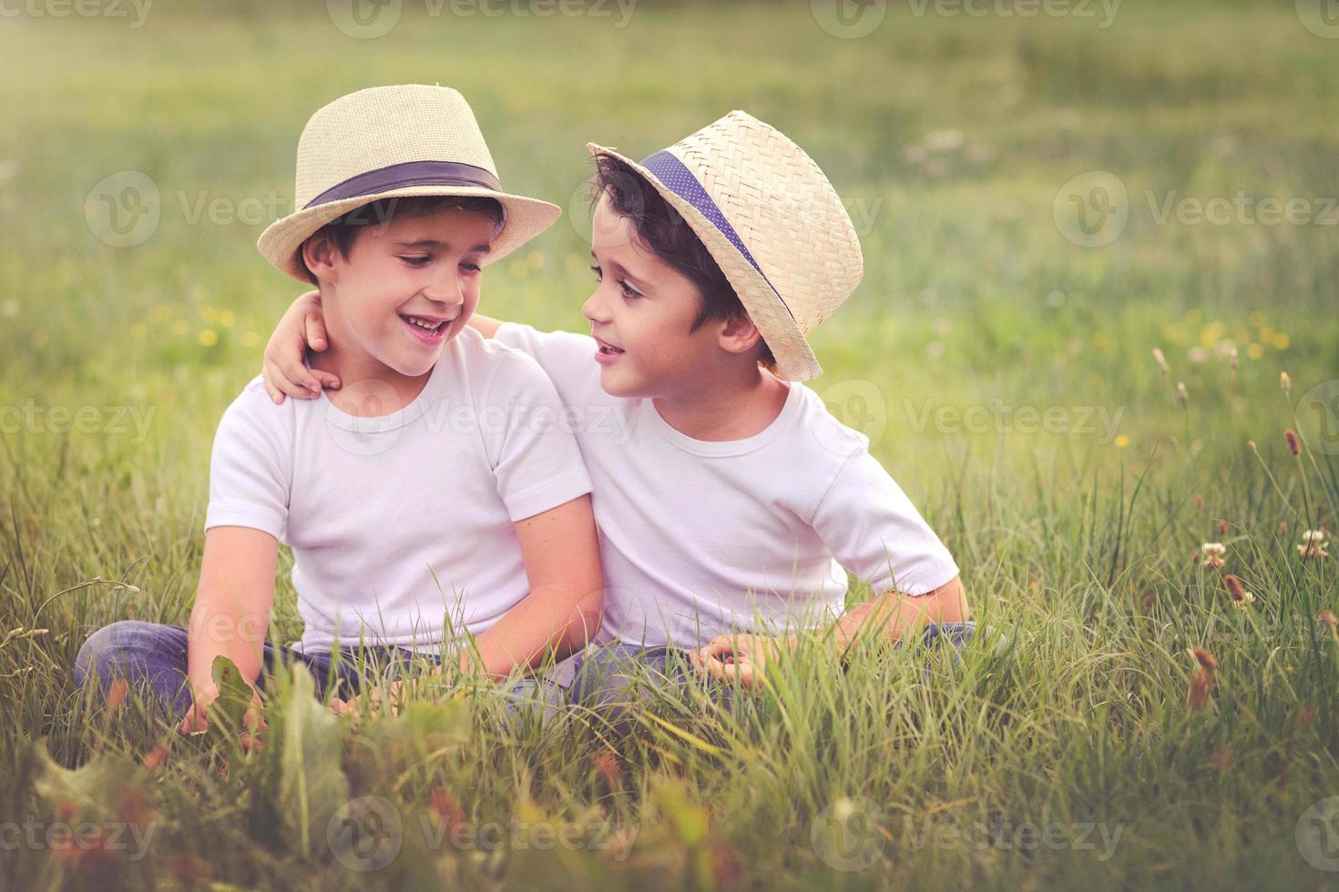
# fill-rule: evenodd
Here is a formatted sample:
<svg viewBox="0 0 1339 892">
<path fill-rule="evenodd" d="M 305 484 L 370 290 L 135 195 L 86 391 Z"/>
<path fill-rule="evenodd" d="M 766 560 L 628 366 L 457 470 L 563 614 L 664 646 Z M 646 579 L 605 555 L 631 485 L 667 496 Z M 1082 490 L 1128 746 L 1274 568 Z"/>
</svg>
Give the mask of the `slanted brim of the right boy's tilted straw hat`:
<svg viewBox="0 0 1339 892">
<path fill-rule="evenodd" d="M 818 357 L 814 356 L 790 310 L 781 302 L 763 274 L 754 269 L 753 263 L 739 253 L 739 249 L 726 238 L 724 233 L 716 229 L 715 223 L 707 219 L 690 201 L 680 198 L 678 193 L 660 182 L 659 177 L 627 155 L 596 143 L 586 143 L 586 150 L 592 155 L 612 155 L 637 171 L 687 221 L 694 234 L 720 266 L 720 271 L 730 280 L 730 285 L 739 296 L 739 302 L 744 305 L 749 318 L 758 326 L 762 340 L 767 342 L 773 358 L 777 360 L 779 377 L 787 381 L 807 381 L 822 374 L 823 369 L 818 365 Z"/>
</svg>

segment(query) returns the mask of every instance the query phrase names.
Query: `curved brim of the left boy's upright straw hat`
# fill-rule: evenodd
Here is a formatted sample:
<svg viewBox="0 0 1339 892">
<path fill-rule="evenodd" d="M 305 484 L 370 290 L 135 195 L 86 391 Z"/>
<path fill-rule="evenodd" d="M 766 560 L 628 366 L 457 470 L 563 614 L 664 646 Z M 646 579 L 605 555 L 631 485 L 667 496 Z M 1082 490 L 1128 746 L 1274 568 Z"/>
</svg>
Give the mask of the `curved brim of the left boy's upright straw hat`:
<svg viewBox="0 0 1339 892">
<path fill-rule="evenodd" d="M 386 198 L 419 195 L 459 195 L 462 198 L 493 198 L 506 210 L 502 230 L 493 239 L 483 265 L 497 262 L 546 230 L 562 214 L 562 209 L 538 198 L 498 193 L 481 186 L 404 186 L 372 195 L 358 195 L 307 207 L 272 223 L 256 241 L 256 247 L 270 263 L 300 282 L 311 284 L 307 269 L 297 255 L 303 242 L 316 230 L 344 214 Z"/>
</svg>

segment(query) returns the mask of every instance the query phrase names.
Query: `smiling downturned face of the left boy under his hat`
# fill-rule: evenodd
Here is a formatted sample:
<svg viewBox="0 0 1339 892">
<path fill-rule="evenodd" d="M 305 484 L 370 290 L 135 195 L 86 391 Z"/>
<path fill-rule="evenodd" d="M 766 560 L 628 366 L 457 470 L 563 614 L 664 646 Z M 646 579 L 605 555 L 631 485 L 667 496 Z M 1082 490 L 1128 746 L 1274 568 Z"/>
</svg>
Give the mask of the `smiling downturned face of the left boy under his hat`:
<svg viewBox="0 0 1339 892">
<path fill-rule="evenodd" d="M 329 247 L 315 269 L 331 344 L 407 377 L 426 374 L 479 304 L 494 229 L 482 214 L 441 210 L 371 221 L 348 257 Z"/>
</svg>

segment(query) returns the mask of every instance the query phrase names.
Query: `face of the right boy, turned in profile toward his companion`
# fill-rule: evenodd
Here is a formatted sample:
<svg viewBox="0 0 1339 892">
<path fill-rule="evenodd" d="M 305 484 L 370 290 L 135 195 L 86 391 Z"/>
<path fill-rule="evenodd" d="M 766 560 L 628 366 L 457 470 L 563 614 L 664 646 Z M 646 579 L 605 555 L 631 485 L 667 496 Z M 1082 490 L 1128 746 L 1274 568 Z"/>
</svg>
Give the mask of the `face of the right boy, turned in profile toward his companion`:
<svg viewBox="0 0 1339 892">
<path fill-rule="evenodd" d="M 604 392 L 674 397 L 712 380 L 726 354 L 716 342 L 719 325 L 690 333 L 702 308 L 692 280 L 647 249 L 608 197 L 596 205 L 590 243 L 599 284 L 581 312 L 601 346 L 596 361 Z"/>
</svg>

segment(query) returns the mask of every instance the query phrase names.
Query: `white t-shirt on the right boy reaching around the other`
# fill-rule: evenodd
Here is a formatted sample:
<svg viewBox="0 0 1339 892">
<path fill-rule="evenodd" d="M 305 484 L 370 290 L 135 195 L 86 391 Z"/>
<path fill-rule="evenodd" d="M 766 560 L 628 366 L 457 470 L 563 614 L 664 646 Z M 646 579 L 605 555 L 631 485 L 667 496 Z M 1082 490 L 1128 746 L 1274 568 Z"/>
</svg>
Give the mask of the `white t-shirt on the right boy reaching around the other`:
<svg viewBox="0 0 1339 892">
<path fill-rule="evenodd" d="M 590 337 L 507 322 L 495 340 L 549 373 L 590 472 L 600 641 L 698 646 L 830 622 L 845 608 L 844 567 L 876 592 L 908 595 L 957 575 L 869 439 L 807 386 L 789 384 L 761 433 L 710 443 L 670 427 L 651 400 L 605 393 Z"/>
</svg>

